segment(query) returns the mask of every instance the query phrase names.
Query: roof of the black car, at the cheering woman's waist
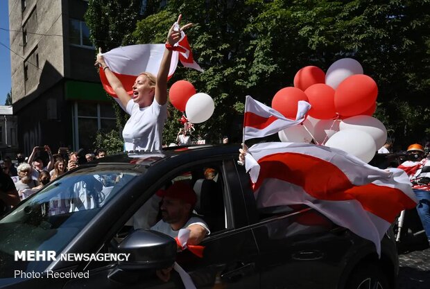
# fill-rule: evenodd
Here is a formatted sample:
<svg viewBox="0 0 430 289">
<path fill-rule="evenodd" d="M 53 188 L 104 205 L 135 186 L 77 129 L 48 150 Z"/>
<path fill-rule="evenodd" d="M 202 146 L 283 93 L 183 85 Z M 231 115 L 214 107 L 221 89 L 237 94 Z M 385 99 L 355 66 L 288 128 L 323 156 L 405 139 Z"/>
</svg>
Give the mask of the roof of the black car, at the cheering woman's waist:
<svg viewBox="0 0 430 289">
<path fill-rule="evenodd" d="M 139 164 L 152 166 L 159 161 L 180 156 L 198 159 L 199 157 L 215 157 L 217 155 L 239 155 L 240 147 L 239 144 L 175 146 L 164 148 L 162 151 L 157 152 L 122 152 L 116 155 L 108 155 L 101 159 L 94 159 L 89 164 Z"/>
</svg>

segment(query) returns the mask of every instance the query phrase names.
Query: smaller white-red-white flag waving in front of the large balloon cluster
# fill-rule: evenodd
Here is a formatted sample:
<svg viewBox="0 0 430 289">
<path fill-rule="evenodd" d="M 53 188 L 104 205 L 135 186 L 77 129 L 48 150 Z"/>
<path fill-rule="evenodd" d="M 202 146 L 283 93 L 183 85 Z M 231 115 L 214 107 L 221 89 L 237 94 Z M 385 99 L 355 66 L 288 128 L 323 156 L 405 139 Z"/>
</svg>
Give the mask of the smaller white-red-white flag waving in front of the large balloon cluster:
<svg viewBox="0 0 430 289">
<path fill-rule="evenodd" d="M 298 125 L 306 119 L 306 114 L 310 109 L 309 103 L 300 100 L 295 120 L 287 119 L 277 110 L 246 96 L 245 114 L 243 115 L 243 141 L 266 137 L 284 130 L 284 128 Z"/>
</svg>

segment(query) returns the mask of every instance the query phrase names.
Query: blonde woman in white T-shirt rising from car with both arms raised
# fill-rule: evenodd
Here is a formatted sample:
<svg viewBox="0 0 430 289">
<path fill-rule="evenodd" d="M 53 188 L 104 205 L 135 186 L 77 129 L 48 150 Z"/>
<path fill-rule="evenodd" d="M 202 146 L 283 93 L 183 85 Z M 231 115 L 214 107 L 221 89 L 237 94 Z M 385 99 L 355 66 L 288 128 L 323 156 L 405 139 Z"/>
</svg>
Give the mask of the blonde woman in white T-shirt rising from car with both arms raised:
<svg viewBox="0 0 430 289">
<path fill-rule="evenodd" d="M 181 17 L 179 15 L 178 24 Z M 170 28 L 157 78 L 148 72 L 141 73 L 132 87 L 132 96 L 127 94 L 121 81 L 107 67 L 99 50 L 96 65 L 105 71 L 107 81 L 117 94 L 121 105 L 126 107 L 126 112 L 130 114 L 130 119 L 123 129 L 125 150 L 162 150 L 162 131 L 167 118 L 167 76 L 173 45 L 180 40 L 181 30 L 191 25 L 186 24 L 179 30 L 174 30 L 174 25 Z"/>
</svg>

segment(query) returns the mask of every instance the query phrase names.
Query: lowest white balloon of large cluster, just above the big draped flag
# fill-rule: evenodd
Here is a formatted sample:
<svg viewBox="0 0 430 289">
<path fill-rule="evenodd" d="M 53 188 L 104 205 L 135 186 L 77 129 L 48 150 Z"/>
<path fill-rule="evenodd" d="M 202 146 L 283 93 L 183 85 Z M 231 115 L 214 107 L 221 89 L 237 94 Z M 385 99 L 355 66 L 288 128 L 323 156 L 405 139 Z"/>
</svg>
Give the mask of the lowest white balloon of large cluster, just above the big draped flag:
<svg viewBox="0 0 430 289">
<path fill-rule="evenodd" d="M 325 146 L 344 150 L 366 163 L 373 159 L 377 150 L 372 136 L 362 130 L 339 130 L 329 138 Z"/>
</svg>

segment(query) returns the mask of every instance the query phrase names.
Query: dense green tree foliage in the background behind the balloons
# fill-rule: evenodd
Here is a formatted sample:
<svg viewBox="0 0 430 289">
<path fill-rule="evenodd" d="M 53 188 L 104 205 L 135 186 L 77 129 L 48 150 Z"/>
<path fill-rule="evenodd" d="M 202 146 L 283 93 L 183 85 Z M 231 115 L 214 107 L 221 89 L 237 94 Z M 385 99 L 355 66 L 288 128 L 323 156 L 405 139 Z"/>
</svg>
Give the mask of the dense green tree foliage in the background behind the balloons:
<svg viewBox="0 0 430 289">
<path fill-rule="evenodd" d="M 194 24 L 187 35 L 205 72 L 179 66 L 169 85 L 189 80 L 212 96 L 214 115 L 196 129 L 214 142 L 223 134 L 240 141 L 246 95 L 270 105 L 279 89 L 293 85 L 298 69 L 316 65 L 326 71 L 345 57 L 361 62 L 377 82 L 376 116 L 397 144 L 421 141 L 430 131 L 429 0 L 172 0 L 164 7 L 148 1 L 140 21 L 131 11 L 139 1 L 123 2 L 89 1 L 97 45 L 163 43 L 179 13 L 182 24 Z M 180 127 L 180 113 L 170 111 L 165 142 Z"/>
</svg>

